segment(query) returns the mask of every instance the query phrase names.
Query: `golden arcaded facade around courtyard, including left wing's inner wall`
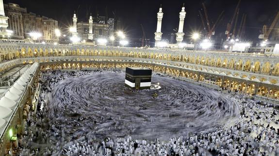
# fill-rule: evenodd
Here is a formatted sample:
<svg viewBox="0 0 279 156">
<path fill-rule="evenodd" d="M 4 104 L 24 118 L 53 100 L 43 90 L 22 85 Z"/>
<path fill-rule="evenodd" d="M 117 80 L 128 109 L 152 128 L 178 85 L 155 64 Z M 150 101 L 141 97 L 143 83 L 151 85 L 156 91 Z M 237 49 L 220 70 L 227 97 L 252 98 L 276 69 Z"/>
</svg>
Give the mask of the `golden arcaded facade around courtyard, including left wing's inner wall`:
<svg viewBox="0 0 279 156">
<path fill-rule="evenodd" d="M 279 56 L 20 43 L 0 44 L 0 55 L 0 71 L 34 62 L 40 63 L 40 70 L 145 67 L 191 83 L 279 104 Z M 28 80 L 27 89 L 12 115 L 5 118 L 0 154 L 7 153 L 15 144 L 10 139 L 11 129 L 13 136 L 23 132 L 26 118 L 23 112 L 28 111 L 38 96 L 35 94 L 39 90 L 38 71 L 36 68 Z"/>
</svg>

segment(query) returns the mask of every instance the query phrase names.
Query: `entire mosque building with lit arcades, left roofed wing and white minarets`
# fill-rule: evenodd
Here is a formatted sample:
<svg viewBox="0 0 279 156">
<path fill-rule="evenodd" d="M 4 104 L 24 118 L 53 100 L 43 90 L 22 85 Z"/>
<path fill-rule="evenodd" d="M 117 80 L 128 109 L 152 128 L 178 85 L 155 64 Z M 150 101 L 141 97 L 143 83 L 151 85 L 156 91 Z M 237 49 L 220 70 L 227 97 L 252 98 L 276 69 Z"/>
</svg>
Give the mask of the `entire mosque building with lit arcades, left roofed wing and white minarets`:
<svg viewBox="0 0 279 156">
<path fill-rule="evenodd" d="M 183 6 L 177 44 L 183 40 L 185 14 Z M 155 46 L 162 39 L 162 8 L 157 15 Z M 6 19 L 4 16 L 1 18 Z M 76 22 L 76 16 L 73 20 Z M 91 20 L 90 17 L 90 40 L 93 39 Z M 76 34 L 76 23 L 74 26 L 73 34 Z M 126 67 L 151 69 L 153 73 L 167 75 L 194 86 L 242 94 L 251 100 L 273 103 L 277 108 L 279 105 L 279 55 L 276 54 L 267 56 L 211 50 L 0 43 L 0 72 L 2 82 L 5 82 L 0 89 L 0 155 L 6 155 L 19 146 L 18 136 L 26 133 L 25 128 L 29 125 L 28 114 L 38 111 L 44 88 L 42 80 L 44 76 L 51 75 L 43 72 L 97 69 L 124 71 Z M 160 79 L 155 77 L 157 79 L 159 82 Z"/>
</svg>

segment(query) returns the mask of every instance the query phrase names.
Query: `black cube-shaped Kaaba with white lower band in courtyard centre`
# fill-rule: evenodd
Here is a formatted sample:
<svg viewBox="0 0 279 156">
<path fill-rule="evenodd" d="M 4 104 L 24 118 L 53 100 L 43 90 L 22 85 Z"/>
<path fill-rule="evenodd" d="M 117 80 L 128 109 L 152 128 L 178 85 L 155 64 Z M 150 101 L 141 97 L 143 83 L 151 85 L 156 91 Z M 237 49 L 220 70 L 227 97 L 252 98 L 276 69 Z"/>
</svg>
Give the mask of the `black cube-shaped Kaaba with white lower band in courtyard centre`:
<svg viewBox="0 0 279 156">
<path fill-rule="evenodd" d="M 126 67 L 125 85 L 132 89 L 150 89 L 152 70 Z"/>
</svg>

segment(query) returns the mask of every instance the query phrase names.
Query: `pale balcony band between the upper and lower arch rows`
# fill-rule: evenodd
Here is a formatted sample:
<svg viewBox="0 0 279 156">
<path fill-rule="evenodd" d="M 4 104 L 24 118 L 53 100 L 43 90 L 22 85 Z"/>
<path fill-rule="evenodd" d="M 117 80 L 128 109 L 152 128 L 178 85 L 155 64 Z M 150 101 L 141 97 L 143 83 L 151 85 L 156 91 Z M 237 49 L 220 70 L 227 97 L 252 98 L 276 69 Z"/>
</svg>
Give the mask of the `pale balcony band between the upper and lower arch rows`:
<svg viewBox="0 0 279 156">
<path fill-rule="evenodd" d="M 278 84 L 279 77 L 273 75 L 266 75 L 261 73 L 253 73 L 247 71 L 237 71 L 232 69 L 224 69 L 220 67 L 210 67 L 205 65 L 197 65 L 192 63 L 186 62 L 178 62 L 178 61 L 171 61 L 171 60 L 156 60 L 156 59 L 148 59 L 148 58 L 133 58 L 133 57 L 104 57 L 104 56 L 58 56 L 58 57 L 28 57 L 28 58 L 20 58 L 16 60 L 12 60 L 11 63 L 4 62 L 0 64 L 0 69 L 5 69 L 7 67 L 12 67 L 13 65 L 17 64 L 26 64 L 26 63 L 51 63 L 51 62 L 90 62 L 90 61 L 106 61 L 106 62 L 135 62 L 135 63 L 143 63 L 143 64 L 151 64 L 151 65 L 159 65 L 165 67 L 172 67 L 183 69 L 187 71 L 194 71 L 196 73 L 207 73 L 207 74 L 214 74 L 220 77 L 229 76 L 233 78 L 243 79 L 245 81 L 253 81 L 261 80 L 262 82 L 267 81 L 270 84 Z M 9 64 L 10 63 L 10 64 Z"/>
</svg>

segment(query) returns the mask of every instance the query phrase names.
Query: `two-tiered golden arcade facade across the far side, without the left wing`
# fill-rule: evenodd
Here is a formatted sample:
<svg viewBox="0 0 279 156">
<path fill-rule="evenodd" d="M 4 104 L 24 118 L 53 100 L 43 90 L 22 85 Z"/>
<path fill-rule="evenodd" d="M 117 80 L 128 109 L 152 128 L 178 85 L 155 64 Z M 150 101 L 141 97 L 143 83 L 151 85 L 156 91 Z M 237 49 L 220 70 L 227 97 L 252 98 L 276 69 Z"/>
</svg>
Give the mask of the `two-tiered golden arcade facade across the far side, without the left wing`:
<svg viewBox="0 0 279 156">
<path fill-rule="evenodd" d="M 246 90 L 249 85 L 254 85 L 255 93 L 260 96 L 275 99 L 279 97 L 279 56 L 38 44 L 1 45 L 0 51 L 1 61 L 13 60 L 11 63 L 10 61 L 2 63 L 1 71 L 15 64 L 35 61 L 42 63 L 70 61 L 70 64 L 80 68 L 87 66 L 82 65 L 83 62 L 75 61 L 139 62 L 160 66 L 166 70 L 165 73 L 168 71 L 172 73 L 173 69 L 177 69 L 178 76 L 219 87 L 230 86 L 237 91 Z M 61 67 L 64 67 L 63 63 Z"/>
</svg>

